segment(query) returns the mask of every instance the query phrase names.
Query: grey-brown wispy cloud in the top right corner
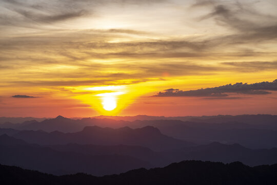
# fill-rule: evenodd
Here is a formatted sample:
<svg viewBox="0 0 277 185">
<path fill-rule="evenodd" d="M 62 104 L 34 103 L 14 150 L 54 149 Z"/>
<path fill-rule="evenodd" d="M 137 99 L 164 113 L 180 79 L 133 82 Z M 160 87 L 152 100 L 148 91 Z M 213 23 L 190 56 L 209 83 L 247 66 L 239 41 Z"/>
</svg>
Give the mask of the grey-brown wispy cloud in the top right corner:
<svg viewBox="0 0 277 185">
<path fill-rule="evenodd" d="M 253 2 L 197 1 L 191 8 L 211 8 L 211 12 L 200 17 L 200 21 L 213 18 L 217 25 L 237 31 L 218 38 L 229 44 L 276 39 L 277 17 L 256 10 L 253 5 Z"/>
</svg>

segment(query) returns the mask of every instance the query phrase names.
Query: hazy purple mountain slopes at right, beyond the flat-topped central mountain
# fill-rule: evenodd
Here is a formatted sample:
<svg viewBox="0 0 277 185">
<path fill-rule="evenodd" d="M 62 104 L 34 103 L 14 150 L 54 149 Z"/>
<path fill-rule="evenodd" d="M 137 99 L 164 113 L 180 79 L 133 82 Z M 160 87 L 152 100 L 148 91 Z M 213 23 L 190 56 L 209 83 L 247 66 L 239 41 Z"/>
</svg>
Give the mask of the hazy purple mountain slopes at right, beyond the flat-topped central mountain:
<svg viewBox="0 0 277 185">
<path fill-rule="evenodd" d="M 212 141 L 221 143 L 240 143 L 251 149 L 270 149 L 277 147 L 277 131 L 258 128 L 227 128 L 219 124 L 182 122 L 177 120 L 135 121 L 134 124 L 152 125 L 168 136 L 207 144 Z M 227 123 L 226 123 L 227 125 Z"/>
</svg>

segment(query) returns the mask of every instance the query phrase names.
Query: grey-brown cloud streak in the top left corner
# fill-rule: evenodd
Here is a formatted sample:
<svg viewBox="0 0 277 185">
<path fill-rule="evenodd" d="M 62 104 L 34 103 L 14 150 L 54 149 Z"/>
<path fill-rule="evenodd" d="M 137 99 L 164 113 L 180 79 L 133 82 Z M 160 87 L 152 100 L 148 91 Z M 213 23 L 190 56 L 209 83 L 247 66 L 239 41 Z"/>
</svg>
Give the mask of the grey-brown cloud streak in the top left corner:
<svg viewBox="0 0 277 185">
<path fill-rule="evenodd" d="M 108 4 L 134 5 L 153 4 L 164 1 L 124 1 L 124 0 L 2 0 L 4 13 L 0 13 L 0 23 L 12 27 L 30 27 L 41 29 L 42 24 L 72 20 L 94 14 L 94 9 Z M 1 9 L 0 9 L 1 10 Z M 9 10 L 9 11 L 7 11 Z M 57 13 L 58 12 L 58 13 Z M 21 16 L 18 16 L 21 15 Z M 100 15 L 96 15 L 100 16 Z"/>
</svg>

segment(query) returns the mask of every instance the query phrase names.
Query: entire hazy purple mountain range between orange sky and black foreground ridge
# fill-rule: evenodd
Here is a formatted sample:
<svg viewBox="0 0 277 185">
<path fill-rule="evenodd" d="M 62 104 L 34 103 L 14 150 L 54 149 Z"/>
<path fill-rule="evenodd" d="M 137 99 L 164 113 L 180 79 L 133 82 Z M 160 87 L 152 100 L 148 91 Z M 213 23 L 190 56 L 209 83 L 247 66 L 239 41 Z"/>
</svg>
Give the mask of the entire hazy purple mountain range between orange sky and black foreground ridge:
<svg viewBox="0 0 277 185">
<path fill-rule="evenodd" d="M 2 123 L 0 163 L 54 175 L 94 176 L 164 168 L 183 160 L 240 161 L 251 167 L 277 163 L 276 116 L 109 118 Z"/>
</svg>

